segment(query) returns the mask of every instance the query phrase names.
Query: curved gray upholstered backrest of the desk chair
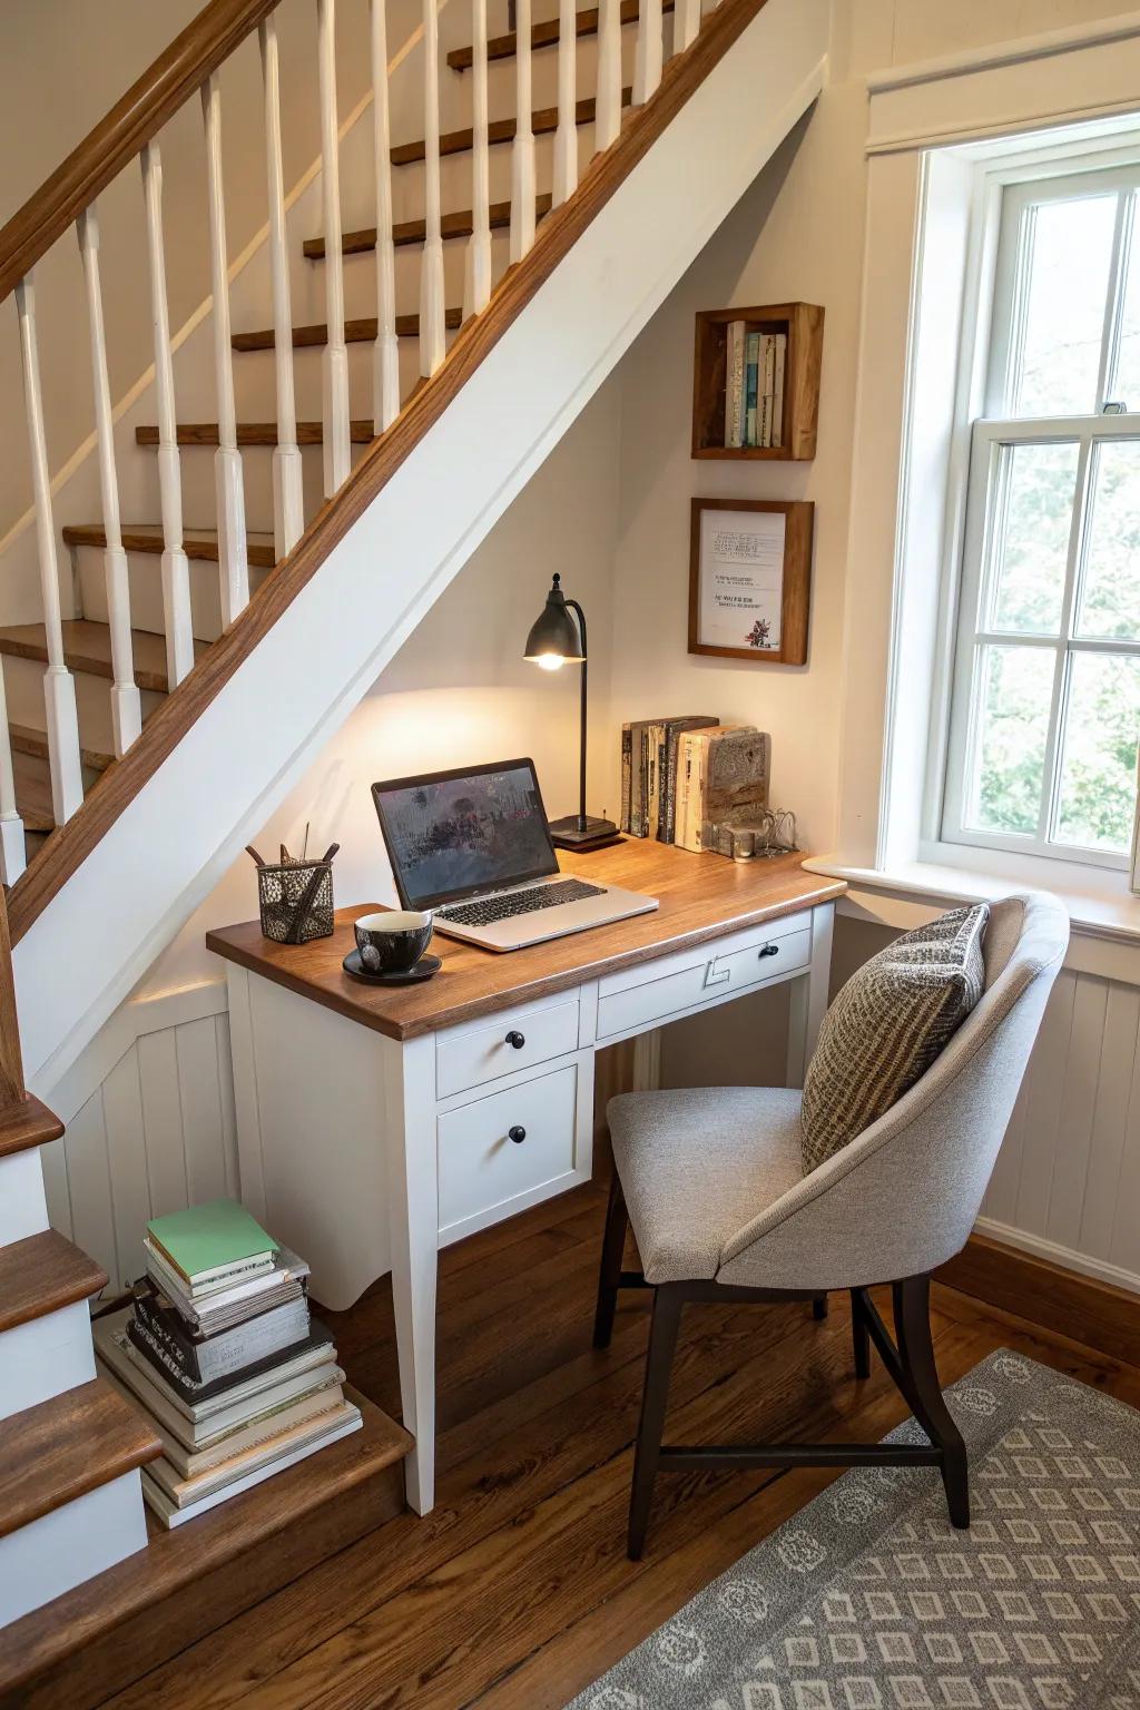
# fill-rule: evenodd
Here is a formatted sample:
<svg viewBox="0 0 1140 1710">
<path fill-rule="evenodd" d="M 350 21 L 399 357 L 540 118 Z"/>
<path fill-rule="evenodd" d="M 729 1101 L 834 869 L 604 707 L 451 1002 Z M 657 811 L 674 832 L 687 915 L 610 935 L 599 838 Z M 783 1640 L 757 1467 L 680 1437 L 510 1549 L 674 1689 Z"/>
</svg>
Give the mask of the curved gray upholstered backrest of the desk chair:
<svg viewBox="0 0 1140 1710">
<path fill-rule="evenodd" d="M 909 1093 L 725 1243 L 718 1281 L 855 1288 L 918 1276 L 957 1253 L 1067 946 L 1056 898 L 1025 891 L 993 903 L 981 1002 Z"/>
</svg>

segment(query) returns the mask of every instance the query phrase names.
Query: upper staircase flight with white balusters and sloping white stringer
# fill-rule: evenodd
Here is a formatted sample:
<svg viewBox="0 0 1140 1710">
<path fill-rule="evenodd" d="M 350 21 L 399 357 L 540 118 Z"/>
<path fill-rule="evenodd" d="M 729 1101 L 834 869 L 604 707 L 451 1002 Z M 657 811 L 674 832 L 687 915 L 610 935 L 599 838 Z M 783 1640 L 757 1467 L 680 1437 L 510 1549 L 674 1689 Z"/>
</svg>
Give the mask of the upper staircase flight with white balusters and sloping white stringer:
<svg viewBox="0 0 1140 1710">
<path fill-rule="evenodd" d="M 827 0 L 518 0 L 491 38 L 485 0 L 426 0 L 402 43 L 369 0 L 371 99 L 342 125 L 335 0 L 313 5 L 321 157 L 292 192 L 277 0 L 212 0 L 0 233 L 34 501 L 0 580 L 0 865 L 32 1084 L 209 894 L 826 77 Z M 268 217 L 231 267 L 219 70 L 258 51 Z M 214 289 L 173 332 L 161 132 L 191 101 Z M 97 198 L 126 171 L 154 368 L 116 407 Z M 34 267 L 68 227 L 94 431 L 63 465 Z"/>
</svg>

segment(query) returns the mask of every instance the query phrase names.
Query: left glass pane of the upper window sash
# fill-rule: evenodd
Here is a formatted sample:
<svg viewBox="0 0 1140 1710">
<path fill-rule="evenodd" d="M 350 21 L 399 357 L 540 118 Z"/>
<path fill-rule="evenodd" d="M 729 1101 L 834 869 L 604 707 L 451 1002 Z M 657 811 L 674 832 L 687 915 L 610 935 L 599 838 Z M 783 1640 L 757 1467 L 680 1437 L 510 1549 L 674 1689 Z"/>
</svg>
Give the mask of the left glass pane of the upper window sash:
<svg viewBox="0 0 1140 1710">
<path fill-rule="evenodd" d="M 1014 416 L 1096 410 L 1114 224 L 1114 195 L 1027 209 L 1029 279 Z"/>
</svg>

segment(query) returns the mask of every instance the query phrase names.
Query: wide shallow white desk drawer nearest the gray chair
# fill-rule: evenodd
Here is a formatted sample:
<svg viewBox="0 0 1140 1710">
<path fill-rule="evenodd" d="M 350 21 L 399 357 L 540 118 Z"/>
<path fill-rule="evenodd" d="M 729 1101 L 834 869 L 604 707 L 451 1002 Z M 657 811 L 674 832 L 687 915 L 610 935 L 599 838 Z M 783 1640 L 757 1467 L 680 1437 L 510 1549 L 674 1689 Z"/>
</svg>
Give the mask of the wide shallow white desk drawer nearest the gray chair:
<svg viewBox="0 0 1140 1710">
<path fill-rule="evenodd" d="M 786 930 L 786 927 L 791 930 Z M 699 1009 L 747 992 L 749 987 L 781 975 L 803 973 L 812 961 L 812 927 L 803 915 L 774 922 L 767 930 L 733 934 L 720 944 L 701 946 L 697 954 L 682 951 L 675 958 L 648 963 L 631 975 L 617 975 L 620 987 L 598 987 L 598 1040 L 643 1028 L 653 1021 Z M 682 966 L 668 968 L 670 963 Z"/>
</svg>

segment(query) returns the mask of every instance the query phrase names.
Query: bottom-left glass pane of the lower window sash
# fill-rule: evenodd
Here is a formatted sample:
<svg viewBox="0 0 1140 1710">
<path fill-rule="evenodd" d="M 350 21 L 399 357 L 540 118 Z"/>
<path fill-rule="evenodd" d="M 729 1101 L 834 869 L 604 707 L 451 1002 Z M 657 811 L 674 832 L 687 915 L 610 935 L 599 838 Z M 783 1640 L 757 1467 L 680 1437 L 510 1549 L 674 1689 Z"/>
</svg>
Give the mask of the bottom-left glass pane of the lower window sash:
<svg viewBox="0 0 1140 1710">
<path fill-rule="evenodd" d="M 966 824 L 974 831 L 1037 831 L 1053 663 L 1053 648 L 983 648 L 966 809 Z"/>
</svg>

